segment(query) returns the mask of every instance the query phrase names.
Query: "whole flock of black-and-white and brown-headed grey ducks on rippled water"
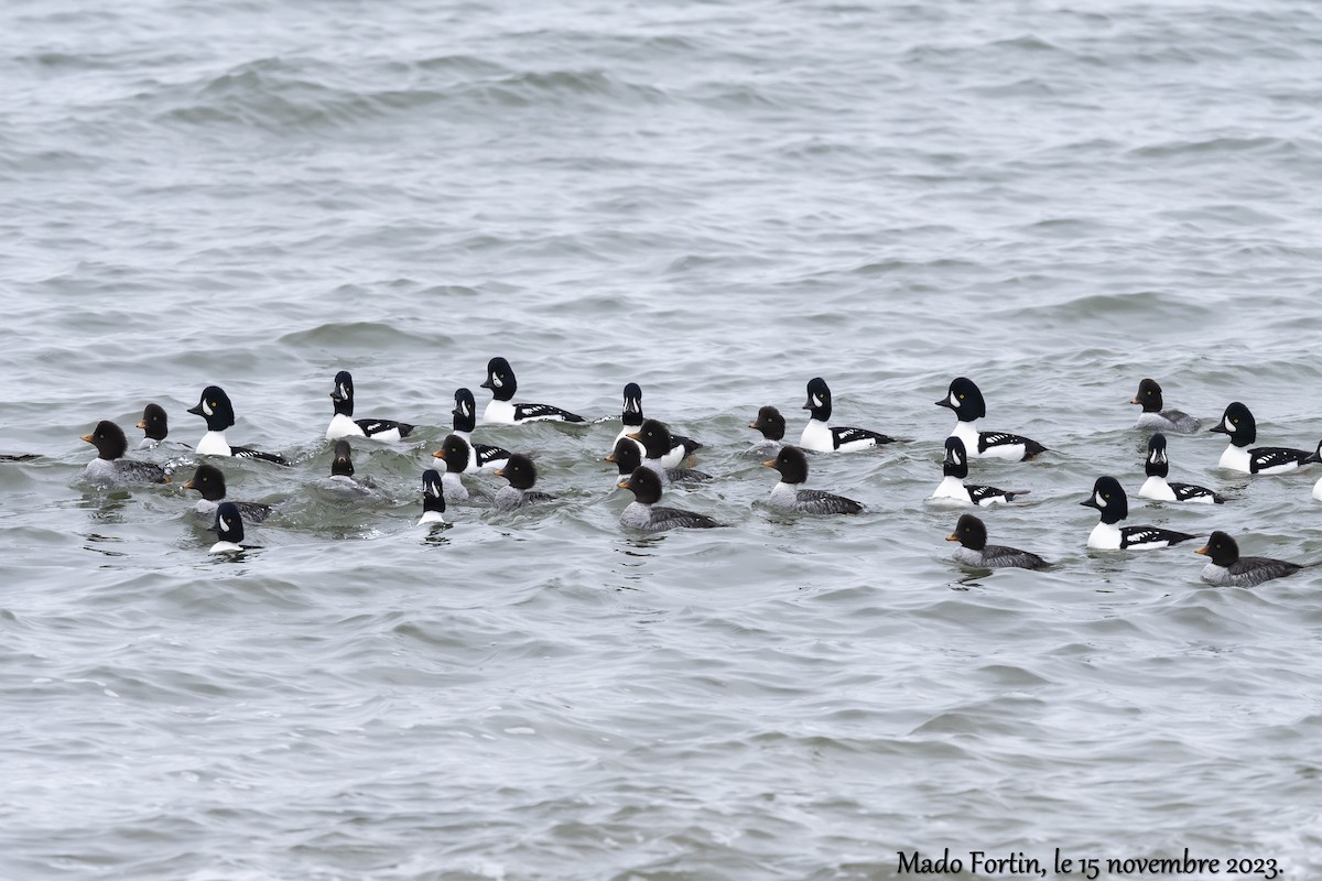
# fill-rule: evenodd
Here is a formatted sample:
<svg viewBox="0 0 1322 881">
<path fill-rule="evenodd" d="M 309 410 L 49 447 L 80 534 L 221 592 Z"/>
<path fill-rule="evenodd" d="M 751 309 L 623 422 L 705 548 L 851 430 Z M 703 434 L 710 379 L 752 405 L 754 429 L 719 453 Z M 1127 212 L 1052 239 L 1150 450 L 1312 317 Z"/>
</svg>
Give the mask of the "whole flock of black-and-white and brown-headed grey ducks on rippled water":
<svg viewBox="0 0 1322 881">
<path fill-rule="evenodd" d="M 492 358 L 486 366 L 486 382 L 483 388 L 490 390 L 492 400 L 483 412 L 483 424 L 520 425 L 534 421 L 586 423 L 582 416 L 549 404 L 514 402 L 518 383 L 514 371 L 504 358 Z M 407 437 L 414 425 L 387 419 L 354 419 L 353 376 L 340 371 L 330 391 L 333 415 L 327 427 L 327 440 L 334 441 L 334 458 L 330 466 L 328 489 L 345 495 L 378 494 L 379 490 L 369 479 L 354 476 L 350 437 L 368 437 L 382 441 L 398 441 Z M 1167 482 L 1169 456 L 1166 437 L 1162 432 L 1192 433 L 1202 431 L 1199 420 L 1177 409 L 1169 409 L 1162 400 L 1161 386 L 1153 379 L 1144 379 L 1132 400 L 1142 407 L 1137 428 L 1151 429 L 1145 460 L 1146 482 L 1138 495 L 1154 501 L 1190 502 L 1220 505 L 1225 502 L 1220 494 L 1191 483 Z M 956 424 L 945 439 L 945 458 L 943 479 L 932 494 L 932 501 L 956 506 L 988 507 L 1013 502 L 1025 495 L 1022 490 L 1002 490 L 994 486 L 966 483 L 970 458 L 1002 458 L 1027 461 L 1047 452 L 1042 444 L 1007 432 L 980 431 L 977 420 L 986 415 L 982 392 L 973 380 L 960 376 L 951 382 L 944 398 L 936 402 L 954 412 Z M 826 382 L 814 378 L 808 383 L 808 400 L 804 409 L 809 411 L 808 424 L 798 439 L 798 445 L 785 445 L 785 419 L 775 407 L 763 407 L 750 428 L 761 433 L 763 441 L 756 448 L 768 458 L 763 465 L 775 469 L 780 479 L 771 491 L 769 503 L 788 512 L 804 515 L 849 515 L 858 514 L 863 506 L 853 499 L 824 490 L 804 489 L 808 481 L 808 457 L 813 453 L 847 453 L 882 444 L 895 439 L 865 428 L 830 425 L 832 392 Z M 242 457 L 288 465 L 282 456 L 266 453 L 229 442 L 225 431 L 234 425 L 234 407 L 229 396 L 218 386 L 202 390 L 197 405 L 189 413 L 206 421 L 206 432 L 197 442 L 196 452 L 209 457 Z M 455 392 L 453 431 L 432 453 L 435 468 L 428 468 L 422 476 L 423 512 L 419 524 L 444 523 L 446 502 L 468 499 L 480 490 L 471 491 L 461 479 L 464 474 L 490 472 L 502 477 L 506 486 L 501 487 L 490 503 L 496 510 L 513 511 L 526 506 L 551 501 L 554 497 L 535 489 L 537 465 L 529 456 L 472 440 L 477 427 L 477 411 L 473 394 L 468 388 Z M 711 479 L 710 474 L 685 468 L 693 453 L 702 446 L 693 439 L 674 435 L 654 419 L 642 416 L 642 391 L 636 383 L 624 387 L 624 423 L 615 439 L 613 448 L 605 461 L 612 462 L 620 473 L 619 486 L 633 493 L 631 502 L 620 515 L 620 523 L 631 530 L 657 532 L 670 528 L 713 528 L 723 526 L 706 514 L 661 506 L 661 495 L 670 485 L 682 485 Z M 137 428 L 144 431 L 139 449 L 151 449 L 168 436 L 165 411 L 157 404 L 148 404 Z M 1222 453 L 1220 466 L 1245 474 L 1277 474 L 1296 470 L 1310 462 L 1322 462 L 1322 442 L 1314 450 L 1290 449 L 1282 446 L 1253 446 L 1257 441 L 1257 425 L 1252 412 L 1243 403 L 1233 402 L 1222 419 L 1208 431 L 1224 433 L 1229 444 Z M 97 448 L 97 458 L 86 468 L 85 478 L 100 485 L 163 483 L 169 482 L 169 474 L 161 465 L 126 458 L 128 441 L 124 432 L 112 421 L 100 421 L 93 433 L 82 440 Z M 226 498 L 225 476 L 215 465 L 204 462 L 197 466 L 192 479 L 184 489 L 201 494 L 197 503 L 198 514 L 213 522 L 219 540 L 210 548 L 212 553 L 234 553 L 243 549 L 245 523 L 259 523 L 271 512 L 271 506 L 256 502 L 234 502 Z M 1313 487 L 1313 498 L 1322 501 L 1322 479 Z M 1129 499 L 1120 482 L 1109 476 L 1099 477 L 1092 494 L 1081 505 L 1093 507 L 1100 514 L 1100 522 L 1088 536 L 1088 547 L 1112 551 L 1146 551 L 1166 548 L 1190 539 L 1195 534 L 1151 526 L 1128 526 Z M 1005 546 L 989 544 L 986 524 L 973 514 L 960 516 L 949 542 L 958 542 L 954 559 L 973 567 L 1001 568 L 1017 567 L 1027 569 L 1047 568 L 1050 564 L 1040 556 Z M 1306 565 L 1273 560 L 1266 557 L 1240 556 L 1233 538 L 1225 532 L 1214 531 L 1207 544 L 1196 551 L 1210 557 L 1203 568 L 1203 579 L 1212 584 L 1252 586 L 1269 579 L 1292 575 Z"/>
</svg>

